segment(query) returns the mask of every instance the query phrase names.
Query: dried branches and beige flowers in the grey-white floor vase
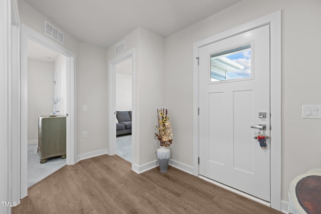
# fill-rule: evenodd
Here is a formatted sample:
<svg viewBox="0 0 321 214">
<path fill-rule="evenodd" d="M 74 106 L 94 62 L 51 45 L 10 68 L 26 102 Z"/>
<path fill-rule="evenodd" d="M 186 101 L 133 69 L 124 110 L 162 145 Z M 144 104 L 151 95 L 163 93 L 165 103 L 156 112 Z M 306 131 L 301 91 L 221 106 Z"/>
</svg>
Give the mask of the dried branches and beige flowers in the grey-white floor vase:
<svg viewBox="0 0 321 214">
<path fill-rule="evenodd" d="M 157 109 L 157 119 L 158 125 L 156 125 L 156 127 L 158 129 L 158 133 L 155 133 L 155 135 L 161 143 L 161 146 L 168 147 L 172 144 L 173 134 L 171 122 L 169 121 L 170 117 L 167 114 L 167 109 Z"/>
</svg>

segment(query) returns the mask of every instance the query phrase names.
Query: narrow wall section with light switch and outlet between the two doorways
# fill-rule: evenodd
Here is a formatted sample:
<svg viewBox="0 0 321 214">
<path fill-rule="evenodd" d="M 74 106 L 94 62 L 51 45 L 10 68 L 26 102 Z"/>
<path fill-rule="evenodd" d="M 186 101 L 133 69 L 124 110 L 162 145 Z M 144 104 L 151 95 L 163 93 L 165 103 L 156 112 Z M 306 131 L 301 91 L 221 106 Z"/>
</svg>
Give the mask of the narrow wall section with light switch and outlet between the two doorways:
<svg viewBox="0 0 321 214">
<path fill-rule="evenodd" d="M 78 150 L 83 154 L 107 147 L 106 49 L 79 43 L 77 60 Z M 83 105 L 87 105 L 87 111 L 82 111 Z M 83 131 L 88 138 L 82 138 Z"/>
</svg>

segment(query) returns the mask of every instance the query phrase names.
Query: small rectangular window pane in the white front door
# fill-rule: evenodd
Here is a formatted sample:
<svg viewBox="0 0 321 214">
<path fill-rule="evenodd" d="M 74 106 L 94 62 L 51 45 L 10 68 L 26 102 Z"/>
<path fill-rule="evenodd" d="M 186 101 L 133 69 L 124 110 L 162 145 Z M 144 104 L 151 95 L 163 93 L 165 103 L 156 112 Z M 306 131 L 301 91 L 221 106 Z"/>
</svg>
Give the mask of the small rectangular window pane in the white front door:
<svg viewBox="0 0 321 214">
<path fill-rule="evenodd" d="M 211 55 L 211 82 L 251 77 L 251 44 Z"/>
</svg>

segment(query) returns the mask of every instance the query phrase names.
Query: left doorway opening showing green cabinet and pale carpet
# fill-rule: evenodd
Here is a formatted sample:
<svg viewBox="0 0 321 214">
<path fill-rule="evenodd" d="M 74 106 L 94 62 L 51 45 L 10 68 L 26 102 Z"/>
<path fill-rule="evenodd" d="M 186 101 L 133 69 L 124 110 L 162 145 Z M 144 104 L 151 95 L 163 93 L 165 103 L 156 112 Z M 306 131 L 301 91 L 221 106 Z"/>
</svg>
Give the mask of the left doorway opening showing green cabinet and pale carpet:
<svg viewBox="0 0 321 214">
<path fill-rule="evenodd" d="M 65 115 L 67 108 L 66 62 L 65 55 L 28 39 L 28 188 L 66 165 L 66 159 L 61 158 L 57 152 L 61 150 L 60 153 L 66 153 L 66 136 L 61 136 L 63 139 L 59 142 L 44 138 L 39 141 L 39 138 L 44 137 L 43 134 L 40 135 L 40 118 L 65 121 L 62 116 L 56 118 L 58 115 Z M 54 99 L 58 101 L 55 104 L 57 117 L 51 118 L 48 116 L 53 116 Z M 65 122 L 63 125 L 64 127 L 59 127 L 59 124 L 55 124 L 57 129 L 47 133 L 54 133 L 56 136 L 62 134 L 58 130 L 65 133 Z M 51 148 L 48 147 L 48 151 L 45 151 L 49 143 Z"/>
</svg>

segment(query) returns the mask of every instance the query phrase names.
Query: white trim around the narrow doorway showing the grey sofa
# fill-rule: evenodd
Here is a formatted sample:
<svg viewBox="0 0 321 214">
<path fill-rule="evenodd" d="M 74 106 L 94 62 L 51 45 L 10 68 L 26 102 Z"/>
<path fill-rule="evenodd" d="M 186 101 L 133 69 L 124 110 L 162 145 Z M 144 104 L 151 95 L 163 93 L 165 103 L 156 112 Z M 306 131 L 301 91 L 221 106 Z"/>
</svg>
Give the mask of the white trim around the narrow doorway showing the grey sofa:
<svg viewBox="0 0 321 214">
<path fill-rule="evenodd" d="M 108 154 L 114 155 L 116 154 L 116 69 L 115 65 L 120 63 L 121 61 L 131 58 L 131 105 L 132 105 L 132 125 L 131 125 L 131 169 L 133 171 L 135 170 L 135 136 L 136 136 L 136 113 L 135 113 L 135 48 L 132 48 L 117 57 L 113 58 L 108 62 L 108 117 L 109 117 L 109 123 L 108 123 Z"/>
</svg>

